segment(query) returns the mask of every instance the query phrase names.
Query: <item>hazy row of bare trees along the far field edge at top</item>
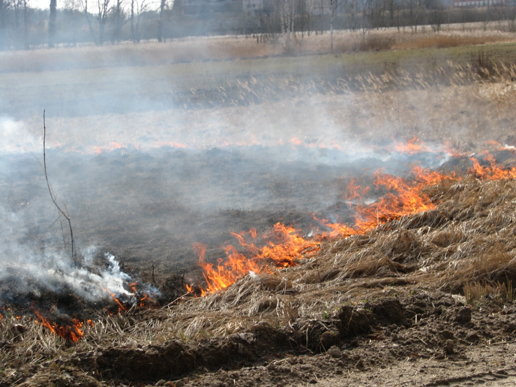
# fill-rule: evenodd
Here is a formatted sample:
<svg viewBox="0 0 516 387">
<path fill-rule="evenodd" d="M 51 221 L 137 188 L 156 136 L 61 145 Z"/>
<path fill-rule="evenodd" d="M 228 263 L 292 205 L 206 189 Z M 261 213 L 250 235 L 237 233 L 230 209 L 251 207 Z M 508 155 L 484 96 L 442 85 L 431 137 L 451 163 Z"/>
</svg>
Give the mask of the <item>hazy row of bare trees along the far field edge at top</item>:
<svg viewBox="0 0 516 387">
<path fill-rule="evenodd" d="M 246 8 L 250 0 L 150 1 L 66 0 L 57 9 L 56 0 L 50 0 L 49 8 L 41 10 L 30 0 L 0 0 L 0 49 L 246 34 L 258 41 L 281 39 L 288 51 L 298 33 L 329 31 L 332 37 L 335 29 L 388 27 L 417 33 L 428 26 L 439 31 L 445 23 L 493 21 L 514 31 L 516 18 L 514 0 L 483 8 L 457 8 L 447 0 L 262 0 L 251 10 Z"/>
</svg>

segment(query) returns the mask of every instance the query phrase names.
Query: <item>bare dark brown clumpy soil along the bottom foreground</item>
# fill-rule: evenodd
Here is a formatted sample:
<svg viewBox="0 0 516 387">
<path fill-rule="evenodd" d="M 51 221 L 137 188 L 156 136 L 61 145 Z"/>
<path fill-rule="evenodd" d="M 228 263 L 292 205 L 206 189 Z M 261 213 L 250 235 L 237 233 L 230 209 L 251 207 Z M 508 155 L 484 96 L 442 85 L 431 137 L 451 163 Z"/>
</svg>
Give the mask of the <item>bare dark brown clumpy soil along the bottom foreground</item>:
<svg viewBox="0 0 516 387">
<path fill-rule="evenodd" d="M 327 319 L 287 328 L 263 322 L 198 343 L 74 351 L 12 385 L 514 384 L 516 305 L 462 301 L 415 291 L 344 305 Z"/>
</svg>

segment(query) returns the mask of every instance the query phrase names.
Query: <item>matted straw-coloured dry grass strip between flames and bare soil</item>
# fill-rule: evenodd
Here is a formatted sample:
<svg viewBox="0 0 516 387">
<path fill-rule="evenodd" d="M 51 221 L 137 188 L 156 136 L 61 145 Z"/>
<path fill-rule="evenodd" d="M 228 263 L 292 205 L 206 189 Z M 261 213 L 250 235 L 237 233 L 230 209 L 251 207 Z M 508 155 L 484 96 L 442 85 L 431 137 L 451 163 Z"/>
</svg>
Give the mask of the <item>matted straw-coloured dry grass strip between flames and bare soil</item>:
<svg viewBox="0 0 516 387">
<path fill-rule="evenodd" d="M 44 378 L 56 382 L 66 378 L 58 364 L 74 364 L 77 357 L 94 357 L 107 347 L 191 343 L 256 327 L 296 326 L 304 332 L 314 319 L 324 321 L 342 305 L 404 296 L 414 289 L 463 292 L 467 302 L 481 301 L 486 294 L 511 300 L 516 180 L 465 176 L 443 180 L 424 193 L 437 208 L 363 235 L 321 243 L 315 256 L 304 257 L 297 266 L 251 273 L 205 297 L 105 316 L 94 326 L 85 325 L 84 337 L 75 344 L 35 320 L 6 314 L 0 320 L 0 380 L 9 385 L 32 376 L 36 384 L 47 384 L 41 382 Z M 98 383 L 88 378 L 90 385 Z"/>
</svg>

